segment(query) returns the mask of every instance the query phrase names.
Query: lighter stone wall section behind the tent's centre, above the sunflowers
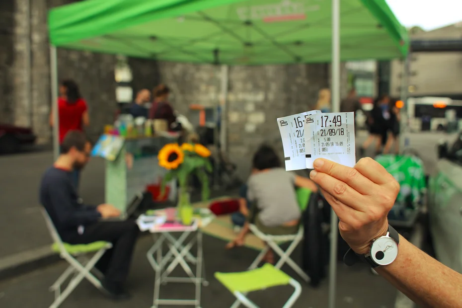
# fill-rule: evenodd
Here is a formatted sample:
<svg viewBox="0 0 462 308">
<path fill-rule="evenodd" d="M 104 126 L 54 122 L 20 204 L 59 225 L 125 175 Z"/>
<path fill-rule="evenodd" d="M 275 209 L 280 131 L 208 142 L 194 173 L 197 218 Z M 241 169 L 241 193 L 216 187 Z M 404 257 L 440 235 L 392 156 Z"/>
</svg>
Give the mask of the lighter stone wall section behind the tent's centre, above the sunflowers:
<svg viewBox="0 0 462 308">
<path fill-rule="evenodd" d="M 188 114 L 190 104 L 218 103 L 220 67 L 159 63 L 158 68 L 180 113 Z M 341 72 L 341 92 L 345 95 L 346 69 Z M 330 85 L 329 76 L 330 66 L 326 64 L 230 67 L 228 149 L 242 178 L 248 175 L 252 155 L 262 143 L 273 145 L 283 156 L 276 118 L 313 109 L 319 89 Z"/>
</svg>

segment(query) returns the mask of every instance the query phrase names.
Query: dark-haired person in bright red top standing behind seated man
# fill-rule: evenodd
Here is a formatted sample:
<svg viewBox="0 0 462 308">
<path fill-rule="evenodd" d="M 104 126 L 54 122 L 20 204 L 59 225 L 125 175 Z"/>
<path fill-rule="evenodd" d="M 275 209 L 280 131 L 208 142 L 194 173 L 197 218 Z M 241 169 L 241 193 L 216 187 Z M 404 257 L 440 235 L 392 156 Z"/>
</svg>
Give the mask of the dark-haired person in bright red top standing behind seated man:
<svg viewBox="0 0 462 308">
<path fill-rule="evenodd" d="M 77 83 L 74 80 L 63 80 L 59 86 L 58 97 L 58 119 L 59 119 L 59 144 L 61 144 L 69 131 L 83 131 L 84 127 L 90 125 L 88 108 L 85 100 L 80 95 Z M 50 113 L 50 126 L 54 126 L 53 110 Z M 80 172 L 72 172 L 73 183 L 78 189 Z"/>
</svg>

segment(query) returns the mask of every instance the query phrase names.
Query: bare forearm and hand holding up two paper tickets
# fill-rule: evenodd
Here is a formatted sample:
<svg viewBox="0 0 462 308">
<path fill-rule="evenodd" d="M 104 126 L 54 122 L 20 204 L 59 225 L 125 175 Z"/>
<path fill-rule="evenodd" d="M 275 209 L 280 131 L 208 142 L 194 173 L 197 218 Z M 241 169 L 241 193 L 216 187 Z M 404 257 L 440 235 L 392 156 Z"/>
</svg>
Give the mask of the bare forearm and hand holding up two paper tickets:
<svg viewBox="0 0 462 308">
<path fill-rule="evenodd" d="M 388 230 L 387 214 L 393 207 L 399 184 L 371 158 L 360 159 L 353 168 L 316 159 L 314 167 L 310 177 L 337 214 L 340 234 L 356 253 L 368 253 L 372 240 Z M 397 258 L 376 271 L 425 307 L 462 307 L 462 275 L 402 236 Z"/>
</svg>

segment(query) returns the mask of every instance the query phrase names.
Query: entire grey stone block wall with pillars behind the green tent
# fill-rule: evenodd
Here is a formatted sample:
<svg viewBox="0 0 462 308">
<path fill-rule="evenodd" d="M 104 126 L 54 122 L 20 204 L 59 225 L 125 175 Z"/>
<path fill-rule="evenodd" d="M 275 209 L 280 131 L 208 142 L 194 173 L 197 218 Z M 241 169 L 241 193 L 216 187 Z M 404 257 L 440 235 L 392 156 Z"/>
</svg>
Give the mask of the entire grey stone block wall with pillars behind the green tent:
<svg viewBox="0 0 462 308">
<path fill-rule="evenodd" d="M 48 115 L 51 107 L 50 59 L 47 11 L 73 1 L 33 0 L 31 14 L 31 70 L 26 76 L 27 41 L 24 22 L 28 0 L 0 1 L 0 121 L 32 126 L 39 142 L 51 141 Z M 58 49 L 58 77 L 72 78 L 89 106 L 89 135 L 96 139 L 104 125 L 112 123 L 117 108 L 114 55 Z M 134 93 L 152 89 L 159 82 L 172 89 L 171 102 L 188 115 L 190 104 L 216 106 L 220 98 L 221 68 L 214 65 L 155 62 L 129 58 Z M 262 143 L 274 146 L 283 156 L 276 118 L 312 109 L 318 90 L 329 87 L 330 66 L 299 64 L 287 66 L 233 66 L 229 70 L 228 142 L 229 156 L 238 164 L 243 179 L 251 157 Z M 27 95 L 27 78 L 31 95 Z M 346 70 L 342 68 L 342 96 L 346 92 Z M 31 97 L 30 101 L 27 97 Z"/>
</svg>

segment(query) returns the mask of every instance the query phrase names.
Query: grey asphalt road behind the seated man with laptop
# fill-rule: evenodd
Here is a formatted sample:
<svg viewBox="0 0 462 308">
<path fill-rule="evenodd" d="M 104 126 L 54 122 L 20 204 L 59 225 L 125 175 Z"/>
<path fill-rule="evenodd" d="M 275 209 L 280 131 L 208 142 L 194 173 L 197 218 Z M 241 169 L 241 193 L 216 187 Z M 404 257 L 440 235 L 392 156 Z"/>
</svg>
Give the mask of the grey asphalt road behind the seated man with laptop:
<svg viewBox="0 0 462 308">
<path fill-rule="evenodd" d="M 0 156 L 0 258 L 51 242 L 38 207 L 40 177 L 53 162 L 51 152 Z M 104 201 L 104 163 L 93 159 L 84 170 L 81 195 L 87 202 Z"/>
</svg>

